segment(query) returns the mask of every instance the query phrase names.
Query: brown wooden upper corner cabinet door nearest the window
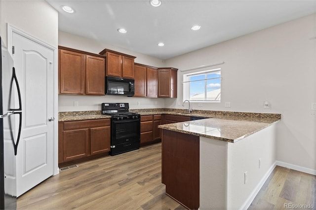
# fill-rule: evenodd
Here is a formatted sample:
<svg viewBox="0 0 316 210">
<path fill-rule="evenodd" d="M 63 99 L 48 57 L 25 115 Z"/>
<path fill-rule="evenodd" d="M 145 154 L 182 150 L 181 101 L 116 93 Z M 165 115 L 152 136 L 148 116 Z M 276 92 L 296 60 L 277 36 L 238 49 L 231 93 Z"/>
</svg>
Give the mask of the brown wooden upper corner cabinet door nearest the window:
<svg viewBox="0 0 316 210">
<path fill-rule="evenodd" d="M 158 70 L 158 97 L 170 97 L 170 70 Z"/>
</svg>

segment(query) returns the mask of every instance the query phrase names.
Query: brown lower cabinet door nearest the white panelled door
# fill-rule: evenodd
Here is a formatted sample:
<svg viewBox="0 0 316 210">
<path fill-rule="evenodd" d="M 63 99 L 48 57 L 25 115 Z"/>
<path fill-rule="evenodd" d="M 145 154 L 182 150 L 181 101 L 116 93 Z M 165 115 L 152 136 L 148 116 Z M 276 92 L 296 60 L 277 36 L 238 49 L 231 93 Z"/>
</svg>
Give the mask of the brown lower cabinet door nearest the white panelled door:
<svg viewBox="0 0 316 210">
<path fill-rule="evenodd" d="M 88 129 L 64 131 L 63 147 L 64 161 L 89 156 Z"/>
</svg>

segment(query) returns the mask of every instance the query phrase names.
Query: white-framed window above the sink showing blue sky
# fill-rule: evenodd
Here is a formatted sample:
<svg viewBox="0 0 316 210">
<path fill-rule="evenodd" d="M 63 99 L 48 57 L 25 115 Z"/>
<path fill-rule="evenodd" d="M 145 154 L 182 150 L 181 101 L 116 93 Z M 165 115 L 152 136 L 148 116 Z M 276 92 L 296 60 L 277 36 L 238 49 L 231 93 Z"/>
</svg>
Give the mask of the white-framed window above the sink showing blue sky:
<svg viewBox="0 0 316 210">
<path fill-rule="evenodd" d="M 221 101 L 221 69 L 183 75 L 183 99 L 189 101 Z"/>
</svg>

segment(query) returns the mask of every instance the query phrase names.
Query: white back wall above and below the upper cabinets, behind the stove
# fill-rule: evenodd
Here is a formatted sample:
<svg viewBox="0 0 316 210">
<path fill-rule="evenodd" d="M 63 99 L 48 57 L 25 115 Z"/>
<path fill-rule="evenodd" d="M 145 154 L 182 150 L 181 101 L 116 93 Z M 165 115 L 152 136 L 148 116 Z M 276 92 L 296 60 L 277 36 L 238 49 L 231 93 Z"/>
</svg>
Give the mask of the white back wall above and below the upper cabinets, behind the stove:
<svg viewBox="0 0 316 210">
<path fill-rule="evenodd" d="M 161 59 L 157 59 L 144 54 L 132 52 L 110 44 L 100 43 L 81 36 L 72 35 L 66 32 L 59 32 L 58 44 L 60 46 L 83 50 L 86 52 L 99 54 L 103 49 L 111 49 L 128 55 L 136 56 L 135 62 L 154 67 L 164 67 Z M 79 106 L 74 107 L 74 101 L 79 102 Z M 140 105 L 138 105 L 138 102 Z M 164 99 L 126 97 L 126 96 L 75 96 L 59 95 L 59 111 L 85 111 L 101 110 L 101 103 L 129 103 L 130 108 L 163 108 Z"/>
</svg>

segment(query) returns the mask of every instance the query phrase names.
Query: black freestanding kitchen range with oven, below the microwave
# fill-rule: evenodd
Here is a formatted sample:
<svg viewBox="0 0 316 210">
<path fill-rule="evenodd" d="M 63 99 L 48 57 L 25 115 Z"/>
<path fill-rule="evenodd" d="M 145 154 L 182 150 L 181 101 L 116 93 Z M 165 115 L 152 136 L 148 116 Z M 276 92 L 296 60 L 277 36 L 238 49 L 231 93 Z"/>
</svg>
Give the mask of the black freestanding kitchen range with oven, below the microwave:
<svg viewBox="0 0 316 210">
<path fill-rule="evenodd" d="M 140 114 L 128 109 L 128 103 L 102 103 L 102 114 L 111 115 L 112 156 L 139 149 Z"/>
</svg>

